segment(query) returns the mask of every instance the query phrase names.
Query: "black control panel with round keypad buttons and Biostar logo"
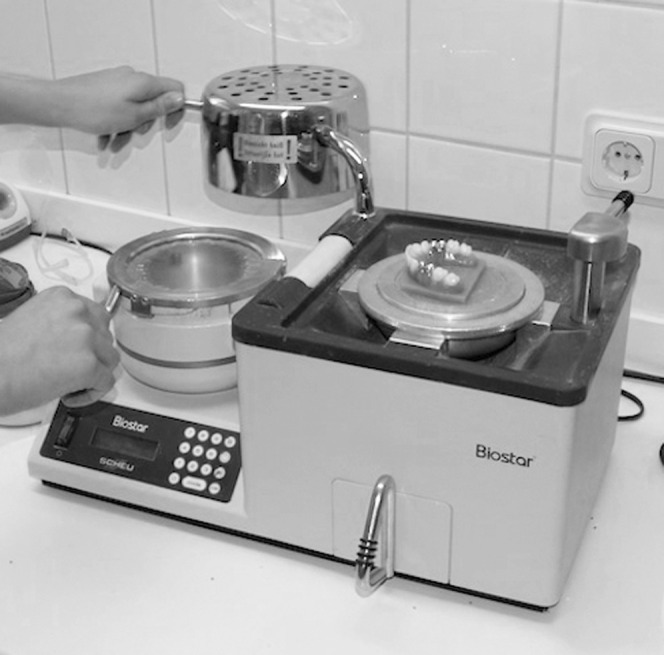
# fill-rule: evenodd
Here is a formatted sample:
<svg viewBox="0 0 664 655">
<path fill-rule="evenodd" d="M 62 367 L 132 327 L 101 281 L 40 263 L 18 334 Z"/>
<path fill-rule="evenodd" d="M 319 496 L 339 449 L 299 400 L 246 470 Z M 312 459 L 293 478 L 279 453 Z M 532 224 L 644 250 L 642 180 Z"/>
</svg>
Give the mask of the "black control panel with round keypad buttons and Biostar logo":
<svg viewBox="0 0 664 655">
<path fill-rule="evenodd" d="M 220 502 L 241 469 L 239 432 L 107 402 L 61 403 L 40 454 Z"/>
</svg>

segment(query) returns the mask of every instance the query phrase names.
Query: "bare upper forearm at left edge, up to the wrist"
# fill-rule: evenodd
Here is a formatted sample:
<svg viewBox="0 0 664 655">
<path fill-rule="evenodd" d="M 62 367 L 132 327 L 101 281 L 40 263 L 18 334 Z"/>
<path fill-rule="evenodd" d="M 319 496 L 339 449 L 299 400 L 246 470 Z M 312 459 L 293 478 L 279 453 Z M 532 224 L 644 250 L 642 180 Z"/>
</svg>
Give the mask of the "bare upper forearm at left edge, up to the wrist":
<svg viewBox="0 0 664 655">
<path fill-rule="evenodd" d="M 60 95 L 53 81 L 0 75 L 0 124 L 65 125 Z"/>
</svg>

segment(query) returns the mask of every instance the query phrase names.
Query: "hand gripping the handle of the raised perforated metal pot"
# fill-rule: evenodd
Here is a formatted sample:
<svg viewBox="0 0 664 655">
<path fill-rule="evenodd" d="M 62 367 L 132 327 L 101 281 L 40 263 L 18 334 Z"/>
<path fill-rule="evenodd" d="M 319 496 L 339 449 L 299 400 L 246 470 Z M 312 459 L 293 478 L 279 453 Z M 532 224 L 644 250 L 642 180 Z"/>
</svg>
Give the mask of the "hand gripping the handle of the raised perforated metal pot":
<svg viewBox="0 0 664 655">
<path fill-rule="evenodd" d="M 69 107 L 67 127 L 99 135 L 100 147 L 114 151 L 129 141 L 132 131 L 147 132 L 161 116 L 172 127 L 184 112 L 181 82 L 130 66 L 66 77 L 54 84 L 55 97 Z"/>
</svg>

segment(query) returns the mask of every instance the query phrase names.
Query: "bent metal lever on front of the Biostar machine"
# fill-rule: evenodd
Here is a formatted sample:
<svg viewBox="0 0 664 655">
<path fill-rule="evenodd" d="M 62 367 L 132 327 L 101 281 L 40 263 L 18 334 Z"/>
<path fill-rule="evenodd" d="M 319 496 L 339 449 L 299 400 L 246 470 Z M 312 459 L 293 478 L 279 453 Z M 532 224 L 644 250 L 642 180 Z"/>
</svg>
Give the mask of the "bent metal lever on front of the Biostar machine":
<svg viewBox="0 0 664 655">
<path fill-rule="evenodd" d="M 394 577 L 394 529 L 396 488 L 389 475 L 376 482 L 364 533 L 355 560 L 355 589 L 360 596 L 371 595 L 380 585 Z M 380 562 L 376 564 L 376 556 Z"/>
</svg>

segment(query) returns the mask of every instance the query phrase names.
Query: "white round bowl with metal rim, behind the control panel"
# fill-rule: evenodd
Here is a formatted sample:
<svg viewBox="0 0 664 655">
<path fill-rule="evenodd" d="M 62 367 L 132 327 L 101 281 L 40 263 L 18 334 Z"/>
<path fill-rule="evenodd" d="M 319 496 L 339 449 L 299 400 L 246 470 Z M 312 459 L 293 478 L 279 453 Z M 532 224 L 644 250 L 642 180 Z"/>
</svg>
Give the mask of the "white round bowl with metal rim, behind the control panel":
<svg viewBox="0 0 664 655">
<path fill-rule="evenodd" d="M 123 246 L 107 275 L 120 292 L 113 326 L 124 368 L 165 391 L 235 386 L 232 317 L 285 268 L 276 246 L 240 230 L 168 230 Z"/>
</svg>

